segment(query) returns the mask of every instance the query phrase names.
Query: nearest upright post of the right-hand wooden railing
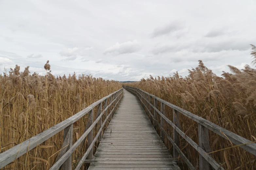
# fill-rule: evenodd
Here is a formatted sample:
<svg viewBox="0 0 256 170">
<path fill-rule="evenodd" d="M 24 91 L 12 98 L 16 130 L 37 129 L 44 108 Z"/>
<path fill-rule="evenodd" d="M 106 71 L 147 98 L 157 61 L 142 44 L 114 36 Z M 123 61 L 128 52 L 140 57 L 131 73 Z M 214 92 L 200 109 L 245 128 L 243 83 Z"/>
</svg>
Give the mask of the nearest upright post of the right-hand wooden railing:
<svg viewBox="0 0 256 170">
<path fill-rule="evenodd" d="M 199 139 L 199 146 L 204 149 L 206 152 L 211 152 L 211 147 L 209 144 L 209 130 L 198 123 L 198 139 Z M 204 157 L 199 154 L 199 170 L 209 170 L 210 164 L 207 162 Z"/>
</svg>

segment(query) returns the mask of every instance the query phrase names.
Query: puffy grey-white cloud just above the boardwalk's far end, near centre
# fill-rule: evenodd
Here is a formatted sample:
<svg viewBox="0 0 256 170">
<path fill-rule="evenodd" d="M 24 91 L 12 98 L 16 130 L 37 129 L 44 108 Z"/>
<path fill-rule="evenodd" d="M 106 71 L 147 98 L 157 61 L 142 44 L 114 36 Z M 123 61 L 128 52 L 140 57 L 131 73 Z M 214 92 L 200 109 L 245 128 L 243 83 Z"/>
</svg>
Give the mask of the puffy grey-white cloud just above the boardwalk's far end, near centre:
<svg viewBox="0 0 256 170">
<path fill-rule="evenodd" d="M 141 50 L 141 45 L 137 40 L 119 44 L 118 42 L 104 51 L 104 54 L 129 54 Z"/>
</svg>

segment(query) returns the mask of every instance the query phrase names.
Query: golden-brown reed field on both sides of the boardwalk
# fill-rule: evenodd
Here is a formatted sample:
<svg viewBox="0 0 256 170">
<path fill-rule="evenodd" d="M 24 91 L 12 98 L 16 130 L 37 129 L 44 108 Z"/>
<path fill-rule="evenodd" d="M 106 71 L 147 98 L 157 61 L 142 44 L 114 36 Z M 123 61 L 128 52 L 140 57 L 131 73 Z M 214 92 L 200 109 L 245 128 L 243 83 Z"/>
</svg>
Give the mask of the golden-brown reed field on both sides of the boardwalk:
<svg viewBox="0 0 256 170">
<path fill-rule="evenodd" d="M 252 57 L 256 64 L 256 48 L 252 46 Z M 69 75 L 55 77 L 50 72 L 49 61 L 44 65 L 46 76 L 30 74 L 29 67 L 21 72 L 14 69 L 0 75 L 0 153 L 37 135 L 44 130 L 73 116 L 95 101 L 122 88 L 117 81 L 93 78 L 91 75 Z M 256 141 L 256 70 L 246 65 L 243 70 L 230 66 L 230 72 L 216 76 L 202 61 L 189 76 L 182 78 L 178 72 L 170 77 L 144 79 L 123 85 L 140 88 L 174 105 L 186 109 L 198 116 Z M 172 120 L 172 111 L 166 110 Z M 168 114 L 169 113 L 169 114 Z M 197 123 L 180 114 L 183 132 L 198 143 Z M 81 136 L 86 118 L 74 125 L 73 142 Z M 169 129 L 170 135 L 172 130 Z M 213 158 L 225 169 L 252 170 L 256 166 L 256 157 L 234 147 L 228 140 L 209 133 Z M 198 169 L 198 153 L 184 139 L 180 139 L 180 148 L 192 164 Z M 171 144 L 167 143 L 167 148 Z M 27 154 L 18 158 L 6 169 L 49 169 L 58 157 L 63 143 L 63 131 L 54 135 Z M 73 167 L 82 157 L 78 149 L 73 153 Z M 172 152 L 172 149 L 170 149 Z M 182 168 L 186 165 L 178 158 Z M 83 167 L 84 168 L 84 167 Z"/>
</svg>

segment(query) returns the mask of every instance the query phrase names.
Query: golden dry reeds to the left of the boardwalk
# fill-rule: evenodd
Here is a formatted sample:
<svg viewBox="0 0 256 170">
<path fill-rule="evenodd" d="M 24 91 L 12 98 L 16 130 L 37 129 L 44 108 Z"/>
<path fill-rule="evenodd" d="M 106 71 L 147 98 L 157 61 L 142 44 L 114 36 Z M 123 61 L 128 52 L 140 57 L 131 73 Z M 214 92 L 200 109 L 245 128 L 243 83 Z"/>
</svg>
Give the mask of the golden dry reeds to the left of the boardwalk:
<svg viewBox="0 0 256 170">
<path fill-rule="evenodd" d="M 122 88 L 116 81 L 91 75 L 82 74 L 77 78 L 74 73 L 55 77 L 51 74 L 49 61 L 44 68 L 45 76 L 30 74 L 29 67 L 20 72 L 18 65 L 0 75 L 0 153 Z M 73 143 L 82 135 L 86 123 L 86 117 L 74 123 Z M 62 143 L 63 131 L 5 168 L 49 169 L 56 162 Z M 85 150 L 85 146 L 80 146 L 73 153 L 73 167 Z"/>
</svg>

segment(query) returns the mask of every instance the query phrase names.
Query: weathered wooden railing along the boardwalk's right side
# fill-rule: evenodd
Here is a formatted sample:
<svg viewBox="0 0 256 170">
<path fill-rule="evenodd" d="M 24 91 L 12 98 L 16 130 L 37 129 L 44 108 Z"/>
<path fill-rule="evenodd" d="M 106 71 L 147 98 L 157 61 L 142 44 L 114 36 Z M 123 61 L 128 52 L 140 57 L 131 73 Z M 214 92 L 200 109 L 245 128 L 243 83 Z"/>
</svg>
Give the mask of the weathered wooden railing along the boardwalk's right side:
<svg viewBox="0 0 256 170">
<path fill-rule="evenodd" d="M 153 119 L 154 127 L 156 125 L 161 129 L 161 136 L 166 136 L 167 139 L 173 145 L 173 157 L 178 158 L 180 155 L 184 162 L 188 165 L 190 169 L 196 170 L 196 168 L 190 163 L 190 161 L 186 158 L 186 156 L 179 149 L 179 137 L 178 134 L 183 137 L 196 151 L 199 153 L 199 169 L 200 170 L 209 170 L 210 165 L 213 169 L 221 169 L 224 170 L 223 167 L 219 163 L 217 163 L 208 153 L 211 152 L 211 148 L 209 145 L 209 130 L 214 133 L 220 135 L 221 137 L 231 141 L 235 145 L 239 145 L 242 149 L 247 150 L 248 152 L 256 155 L 256 144 L 242 136 L 236 135 L 208 120 L 205 120 L 195 114 L 188 112 L 178 106 L 175 106 L 169 102 L 166 102 L 152 94 L 144 92 L 141 89 L 129 86 L 123 86 L 129 92 L 134 93 L 139 98 L 140 102 L 147 110 L 147 112 L 151 115 Z M 154 100 L 154 103 L 152 102 Z M 161 103 L 161 110 L 157 109 L 158 101 Z M 173 122 L 166 117 L 165 106 L 169 106 L 173 109 Z M 185 115 L 186 117 L 196 121 L 198 123 L 198 138 L 199 144 L 194 142 L 190 137 L 185 135 L 182 132 L 179 124 L 179 113 Z M 161 116 L 161 122 L 157 121 L 157 114 Z M 167 132 L 163 129 L 164 120 L 173 127 L 173 138 L 167 134 Z"/>
</svg>

